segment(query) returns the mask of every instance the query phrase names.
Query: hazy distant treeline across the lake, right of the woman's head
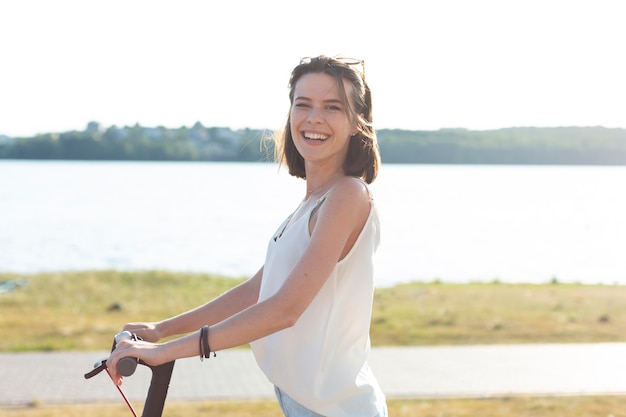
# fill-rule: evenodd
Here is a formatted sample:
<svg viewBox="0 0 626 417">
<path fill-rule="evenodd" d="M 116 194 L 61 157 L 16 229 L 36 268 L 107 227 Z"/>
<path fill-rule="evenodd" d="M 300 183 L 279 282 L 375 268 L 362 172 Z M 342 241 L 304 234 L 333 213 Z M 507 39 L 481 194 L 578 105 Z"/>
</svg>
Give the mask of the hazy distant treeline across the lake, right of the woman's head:
<svg viewBox="0 0 626 417">
<path fill-rule="evenodd" d="M 626 129 L 384 130 L 379 141 L 395 163 L 626 165 Z"/>
</svg>

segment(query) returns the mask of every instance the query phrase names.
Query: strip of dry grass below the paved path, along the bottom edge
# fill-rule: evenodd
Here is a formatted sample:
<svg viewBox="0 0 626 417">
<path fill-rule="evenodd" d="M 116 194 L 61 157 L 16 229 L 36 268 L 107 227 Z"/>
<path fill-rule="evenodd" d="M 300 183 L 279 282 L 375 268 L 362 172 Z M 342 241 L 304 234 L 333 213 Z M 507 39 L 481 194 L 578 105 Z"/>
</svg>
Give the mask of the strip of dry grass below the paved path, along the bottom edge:
<svg viewBox="0 0 626 417">
<path fill-rule="evenodd" d="M 391 400 L 393 417 L 625 417 L 623 397 L 513 397 L 446 400 Z M 137 411 L 141 410 L 136 407 Z M 0 408 L 5 417 L 110 417 L 130 415 L 124 404 Z M 277 417 L 275 401 L 168 403 L 168 417 Z"/>
</svg>

